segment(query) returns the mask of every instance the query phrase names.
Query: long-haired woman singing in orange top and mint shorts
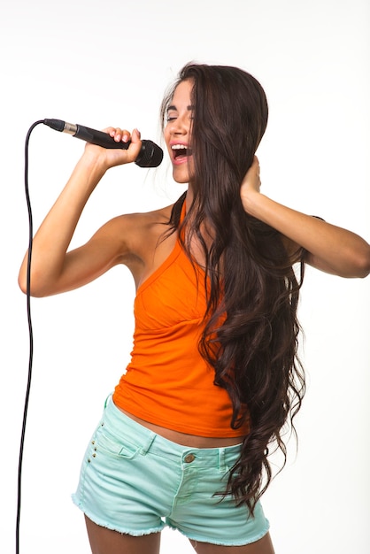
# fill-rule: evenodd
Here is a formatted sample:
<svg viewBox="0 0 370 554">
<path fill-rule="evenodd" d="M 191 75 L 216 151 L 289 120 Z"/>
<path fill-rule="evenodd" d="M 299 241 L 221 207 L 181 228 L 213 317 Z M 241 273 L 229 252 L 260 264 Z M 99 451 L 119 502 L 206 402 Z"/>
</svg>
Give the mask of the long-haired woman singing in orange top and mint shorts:
<svg viewBox="0 0 370 554">
<path fill-rule="evenodd" d="M 175 204 L 112 219 L 67 251 L 104 173 L 140 151 L 137 130 L 109 127 L 128 150 L 87 144 L 35 235 L 32 295 L 76 289 L 117 264 L 137 291 L 132 359 L 73 499 L 93 554 L 155 554 L 166 524 L 200 554 L 272 554 L 259 502 L 268 445 L 285 452 L 281 427 L 304 396 L 292 265 L 365 277 L 370 246 L 259 192 L 267 104 L 250 74 L 186 65 L 162 115 L 174 181 L 189 183 Z"/>
</svg>

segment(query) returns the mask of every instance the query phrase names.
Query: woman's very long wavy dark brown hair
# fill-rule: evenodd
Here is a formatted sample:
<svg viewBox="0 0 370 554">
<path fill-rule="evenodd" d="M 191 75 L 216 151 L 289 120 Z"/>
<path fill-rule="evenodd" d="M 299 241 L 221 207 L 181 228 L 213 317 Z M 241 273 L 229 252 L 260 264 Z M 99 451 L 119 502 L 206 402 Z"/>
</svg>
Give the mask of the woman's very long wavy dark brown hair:
<svg viewBox="0 0 370 554">
<path fill-rule="evenodd" d="M 191 258 L 191 238 L 202 245 L 207 292 L 198 346 L 214 368 L 214 384 L 230 396 L 231 427 L 243 427 L 250 419 L 251 432 L 224 494 L 233 494 L 253 513 L 273 476 L 268 446 L 282 451 L 284 465 L 282 436 L 286 426 L 294 431 L 293 418 L 304 396 L 304 370 L 297 357 L 304 263 L 298 280 L 281 235 L 246 213 L 241 202 L 241 182 L 266 130 L 263 88 L 236 67 L 185 65 L 164 99 L 162 118 L 175 87 L 185 80 L 194 84 L 194 201 L 183 222 L 183 247 Z M 173 206 L 172 229 L 180 225 L 183 201 L 181 196 Z M 204 224 L 212 230 L 211 244 L 204 240 Z M 296 259 L 303 260 L 303 254 L 297 252 Z"/>
</svg>

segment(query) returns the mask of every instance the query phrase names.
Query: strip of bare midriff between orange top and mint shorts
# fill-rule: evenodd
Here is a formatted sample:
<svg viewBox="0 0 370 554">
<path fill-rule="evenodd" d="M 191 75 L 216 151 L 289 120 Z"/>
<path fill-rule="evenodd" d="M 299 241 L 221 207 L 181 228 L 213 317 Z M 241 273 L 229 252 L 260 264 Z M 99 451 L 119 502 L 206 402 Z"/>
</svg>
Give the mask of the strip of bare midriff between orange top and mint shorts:
<svg viewBox="0 0 370 554">
<path fill-rule="evenodd" d="M 118 406 L 117 406 L 118 407 Z M 234 446 L 235 444 L 240 444 L 243 442 L 243 436 L 234 436 L 234 437 L 209 437 L 209 436 L 198 436 L 198 435 L 188 435 L 186 433 L 181 433 L 180 431 L 173 431 L 173 429 L 167 429 L 166 427 L 160 427 L 144 419 L 136 418 L 132 413 L 126 412 L 119 408 L 120 412 L 123 412 L 127 415 L 128 418 L 134 419 L 143 427 L 147 427 L 150 431 L 153 431 L 157 435 L 163 436 L 168 441 L 177 442 L 182 446 L 189 446 L 190 448 L 222 448 L 225 446 Z"/>
</svg>

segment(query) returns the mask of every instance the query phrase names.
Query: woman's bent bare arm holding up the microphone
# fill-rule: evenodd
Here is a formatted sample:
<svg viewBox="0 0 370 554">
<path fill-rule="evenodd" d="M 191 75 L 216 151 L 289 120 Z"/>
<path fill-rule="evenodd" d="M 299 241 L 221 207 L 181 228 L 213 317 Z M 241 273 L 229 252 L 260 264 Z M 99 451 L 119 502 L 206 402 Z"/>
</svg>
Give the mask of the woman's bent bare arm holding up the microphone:
<svg viewBox="0 0 370 554">
<path fill-rule="evenodd" d="M 35 234 L 30 274 L 32 296 L 49 296 L 80 287 L 118 263 L 119 255 L 125 253 L 122 235 L 116 233 L 116 227 L 122 225 L 119 218 L 99 229 L 86 245 L 67 252 L 81 212 L 104 173 L 114 165 L 135 161 L 141 149 L 136 130 L 132 136 L 113 127 L 106 132 L 117 142 L 130 139 L 132 142 L 128 150 L 86 145 L 65 189 Z M 19 287 L 26 292 L 27 253 L 19 270 Z"/>
</svg>

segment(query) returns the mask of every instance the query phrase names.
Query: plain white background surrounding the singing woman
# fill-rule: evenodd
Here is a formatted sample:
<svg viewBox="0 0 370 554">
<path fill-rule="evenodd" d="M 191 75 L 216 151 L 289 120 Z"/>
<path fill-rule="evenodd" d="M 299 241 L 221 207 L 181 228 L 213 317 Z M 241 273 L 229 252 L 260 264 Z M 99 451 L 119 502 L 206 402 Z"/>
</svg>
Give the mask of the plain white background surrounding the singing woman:
<svg viewBox="0 0 370 554">
<path fill-rule="evenodd" d="M 158 106 L 189 60 L 238 65 L 266 88 L 259 150 L 264 192 L 370 239 L 368 0 L 2 0 L 0 550 L 14 552 L 17 466 L 27 384 L 28 127 L 44 118 L 138 127 L 158 138 Z M 36 127 L 30 191 L 37 227 L 83 143 Z M 105 176 L 81 218 L 80 244 L 121 213 L 169 204 L 167 162 Z M 22 554 L 89 553 L 70 501 L 90 432 L 131 348 L 134 286 L 123 267 L 84 289 L 32 300 L 34 374 L 27 420 Z M 279 554 L 365 552 L 369 543 L 370 281 L 308 270 L 300 316 L 308 393 L 298 454 L 264 497 Z M 163 552 L 191 552 L 166 532 Z"/>
</svg>

